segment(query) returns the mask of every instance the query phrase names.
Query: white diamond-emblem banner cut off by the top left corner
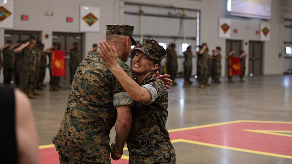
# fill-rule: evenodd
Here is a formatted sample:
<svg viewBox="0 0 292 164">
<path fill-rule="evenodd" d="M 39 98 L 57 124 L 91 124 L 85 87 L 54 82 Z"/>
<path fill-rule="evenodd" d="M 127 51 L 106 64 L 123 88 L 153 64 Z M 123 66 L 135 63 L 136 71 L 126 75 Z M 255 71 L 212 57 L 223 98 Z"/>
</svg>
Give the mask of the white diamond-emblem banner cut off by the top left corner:
<svg viewBox="0 0 292 164">
<path fill-rule="evenodd" d="M 4 0 L 0 2 L 0 28 L 14 27 L 14 1 Z"/>
</svg>

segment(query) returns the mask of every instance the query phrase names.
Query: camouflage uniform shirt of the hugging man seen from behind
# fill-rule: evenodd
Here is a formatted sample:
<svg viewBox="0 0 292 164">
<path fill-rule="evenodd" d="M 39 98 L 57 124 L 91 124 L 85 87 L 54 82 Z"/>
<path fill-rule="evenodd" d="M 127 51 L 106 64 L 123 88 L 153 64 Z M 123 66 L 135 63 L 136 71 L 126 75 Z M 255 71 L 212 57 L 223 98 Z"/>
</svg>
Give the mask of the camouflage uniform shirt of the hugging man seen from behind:
<svg viewBox="0 0 292 164">
<path fill-rule="evenodd" d="M 124 62 L 120 67 L 133 78 Z M 77 67 L 59 133 L 56 150 L 73 159 L 109 164 L 109 132 L 117 118 L 115 107 L 133 99 L 104 65 L 98 53 L 88 55 Z"/>
</svg>

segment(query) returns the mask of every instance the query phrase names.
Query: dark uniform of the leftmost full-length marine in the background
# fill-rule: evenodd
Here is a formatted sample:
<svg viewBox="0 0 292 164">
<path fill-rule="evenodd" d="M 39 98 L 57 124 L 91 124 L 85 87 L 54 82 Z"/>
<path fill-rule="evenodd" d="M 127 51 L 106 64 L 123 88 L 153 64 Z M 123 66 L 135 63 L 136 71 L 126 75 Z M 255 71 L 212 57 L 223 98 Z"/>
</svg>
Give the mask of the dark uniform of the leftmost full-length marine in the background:
<svg viewBox="0 0 292 164">
<path fill-rule="evenodd" d="M 6 47 L 3 49 L 3 76 L 4 76 L 4 85 L 9 85 L 13 77 L 14 69 L 14 50 L 13 48 Z"/>
</svg>

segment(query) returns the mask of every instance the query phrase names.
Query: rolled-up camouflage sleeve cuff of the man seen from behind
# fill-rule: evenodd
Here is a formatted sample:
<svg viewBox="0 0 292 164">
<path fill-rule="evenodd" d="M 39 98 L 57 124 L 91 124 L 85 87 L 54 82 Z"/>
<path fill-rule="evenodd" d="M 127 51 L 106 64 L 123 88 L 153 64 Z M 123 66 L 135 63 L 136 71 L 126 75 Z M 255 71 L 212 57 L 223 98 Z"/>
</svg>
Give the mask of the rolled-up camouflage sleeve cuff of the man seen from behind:
<svg viewBox="0 0 292 164">
<path fill-rule="evenodd" d="M 123 106 L 123 105 L 132 105 L 134 106 L 133 98 L 127 92 L 120 92 L 114 94 L 114 107 Z"/>
</svg>

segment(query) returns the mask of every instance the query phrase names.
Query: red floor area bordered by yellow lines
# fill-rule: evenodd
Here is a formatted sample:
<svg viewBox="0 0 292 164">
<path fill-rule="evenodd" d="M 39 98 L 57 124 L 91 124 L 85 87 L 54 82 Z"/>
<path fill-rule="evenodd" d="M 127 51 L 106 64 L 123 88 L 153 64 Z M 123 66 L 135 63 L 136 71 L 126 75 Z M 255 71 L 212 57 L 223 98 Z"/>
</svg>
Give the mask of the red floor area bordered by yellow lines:
<svg viewBox="0 0 292 164">
<path fill-rule="evenodd" d="M 188 130 L 170 130 L 171 140 L 187 139 L 196 142 L 228 146 L 251 151 L 260 151 L 292 157 L 292 137 L 244 130 L 277 130 L 292 131 L 292 123 L 271 123 L 256 121 L 230 122 L 223 125 L 213 124 Z M 59 163 L 55 147 L 40 149 L 41 164 Z M 112 160 L 112 164 L 128 164 L 128 160 Z"/>
</svg>

